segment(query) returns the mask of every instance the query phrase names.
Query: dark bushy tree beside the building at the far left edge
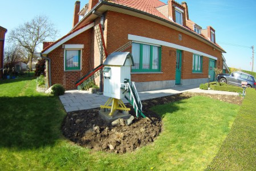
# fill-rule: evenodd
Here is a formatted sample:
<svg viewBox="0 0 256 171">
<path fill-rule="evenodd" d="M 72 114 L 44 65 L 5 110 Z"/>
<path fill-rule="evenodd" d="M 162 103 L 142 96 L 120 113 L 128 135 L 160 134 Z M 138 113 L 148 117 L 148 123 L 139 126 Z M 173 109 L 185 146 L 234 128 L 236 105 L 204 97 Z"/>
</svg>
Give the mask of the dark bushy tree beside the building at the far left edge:
<svg viewBox="0 0 256 171">
<path fill-rule="evenodd" d="M 5 48 L 5 54 L 3 59 L 4 73 L 13 74 L 15 71 L 15 65 L 21 61 L 20 47 L 16 45 L 8 46 Z"/>
</svg>

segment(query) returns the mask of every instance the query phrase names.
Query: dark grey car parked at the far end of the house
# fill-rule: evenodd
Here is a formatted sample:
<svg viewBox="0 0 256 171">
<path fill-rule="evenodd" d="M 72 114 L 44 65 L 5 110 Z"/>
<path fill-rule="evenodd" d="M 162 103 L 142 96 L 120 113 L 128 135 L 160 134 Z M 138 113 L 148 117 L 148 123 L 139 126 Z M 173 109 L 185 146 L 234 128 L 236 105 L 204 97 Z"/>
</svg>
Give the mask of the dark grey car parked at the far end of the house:
<svg viewBox="0 0 256 171">
<path fill-rule="evenodd" d="M 247 87 L 255 88 L 256 86 L 254 76 L 239 71 L 233 72 L 231 74 L 219 74 L 217 76 L 217 81 L 220 83 L 227 83 L 239 87 L 242 86 L 241 82 L 247 82 Z"/>
</svg>

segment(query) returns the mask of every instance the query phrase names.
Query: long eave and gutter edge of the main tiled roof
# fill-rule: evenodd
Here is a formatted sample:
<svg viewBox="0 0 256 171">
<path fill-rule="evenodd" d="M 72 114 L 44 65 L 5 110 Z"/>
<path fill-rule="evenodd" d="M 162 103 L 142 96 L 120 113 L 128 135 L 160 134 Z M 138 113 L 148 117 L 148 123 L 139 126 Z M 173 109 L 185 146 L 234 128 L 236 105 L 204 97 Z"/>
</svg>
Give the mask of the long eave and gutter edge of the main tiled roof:
<svg viewBox="0 0 256 171">
<path fill-rule="evenodd" d="M 210 40 L 204 38 L 204 37 L 201 36 L 201 35 L 198 35 L 196 32 L 191 31 L 191 30 L 189 30 L 188 28 L 185 28 L 184 26 L 177 25 L 177 24 L 174 23 L 174 22 L 168 21 L 168 20 L 166 20 L 166 19 L 164 19 L 164 18 L 161 18 L 161 17 L 157 17 L 156 15 L 149 14 L 149 13 L 146 13 L 146 12 L 141 11 L 141 10 L 133 9 L 132 7 L 127 7 L 127 6 L 123 6 L 123 5 L 119 5 L 119 4 L 111 3 L 111 2 L 106 2 L 106 1 L 99 1 L 99 2 L 91 9 L 91 11 L 89 11 L 89 13 L 88 13 L 86 16 L 84 16 L 84 17 L 74 26 L 74 28 L 72 28 L 72 30 L 74 30 L 77 26 L 79 26 L 80 23 L 82 23 L 82 22 L 85 21 L 87 18 L 89 18 L 89 17 L 93 14 L 93 11 L 94 11 L 94 10 L 99 9 L 99 8 L 100 8 L 101 6 L 103 6 L 103 5 L 118 7 L 118 8 L 120 8 L 120 9 L 125 9 L 125 10 L 130 10 L 130 11 L 133 11 L 133 12 L 135 12 L 135 13 L 140 13 L 140 14 L 143 14 L 143 15 L 147 15 L 148 17 L 152 17 L 152 18 L 158 19 L 159 21 L 165 22 L 165 23 L 167 23 L 167 24 L 169 24 L 169 25 L 172 25 L 172 26 L 177 27 L 177 28 L 180 28 L 180 29 L 182 29 L 182 30 L 184 30 L 184 31 L 186 31 L 186 32 L 188 32 L 188 33 L 190 33 L 190 34 L 193 34 L 194 36 L 197 36 L 197 38 L 206 41 L 207 43 L 209 43 L 209 45 L 213 46 L 214 48 L 220 50 L 220 51 L 223 52 L 223 53 L 226 53 L 226 51 L 225 51 L 223 48 L 221 48 L 220 46 L 217 46 L 217 44 L 212 43 Z M 212 27 L 212 26 L 211 26 L 211 27 Z M 71 30 L 71 31 L 72 31 L 72 30 Z"/>
</svg>

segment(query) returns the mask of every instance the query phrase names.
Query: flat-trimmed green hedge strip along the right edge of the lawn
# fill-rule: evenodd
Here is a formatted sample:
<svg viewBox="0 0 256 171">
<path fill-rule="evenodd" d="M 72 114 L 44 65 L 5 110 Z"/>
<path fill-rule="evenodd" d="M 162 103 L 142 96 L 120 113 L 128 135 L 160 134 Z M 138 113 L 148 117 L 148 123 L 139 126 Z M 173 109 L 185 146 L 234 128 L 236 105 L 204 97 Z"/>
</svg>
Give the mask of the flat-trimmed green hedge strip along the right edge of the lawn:
<svg viewBox="0 0 256 171">
<path fill-rule="evenodd" d="M 220 151 L 206 170 L 255 170 L 256 91 L 246 89 L 238 116 Z"/>
</svg>

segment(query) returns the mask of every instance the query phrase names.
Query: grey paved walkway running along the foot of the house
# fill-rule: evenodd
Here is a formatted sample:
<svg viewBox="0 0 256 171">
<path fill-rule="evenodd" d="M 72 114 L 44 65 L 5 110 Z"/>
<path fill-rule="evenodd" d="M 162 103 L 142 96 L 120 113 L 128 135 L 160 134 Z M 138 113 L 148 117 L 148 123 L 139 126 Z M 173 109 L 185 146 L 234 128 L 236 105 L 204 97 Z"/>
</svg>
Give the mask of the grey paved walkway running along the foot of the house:
<svg viewBox="0 0 256 171">
<path fill-rule="evenodd" d="M 214 90 L 204 90 L 198 88 L 199 85 L 190 86 L 179 86 L 169 89 L 159 89 L 153 91 L 139 92 L 141 100 L 154 99 L 157 97 L 176 95 L 182 92 L 201 92 L 201 93 L 211 93 L 211 94 L 223 94 L 223 95 L 238 95 L 235 92 L 226 91 L 214 91 Z M 87 91 L 70 90 L 66 91 L 64 95 L 59 96 L 66 112 L 79 111 L 84 109 L 91 109 L 100 107 L 104 105 L 109 97 L 104 95 L 92 94 Z M 124 103 L 128 103 L 126 99 L 122 99 Z"/>
</svg>

